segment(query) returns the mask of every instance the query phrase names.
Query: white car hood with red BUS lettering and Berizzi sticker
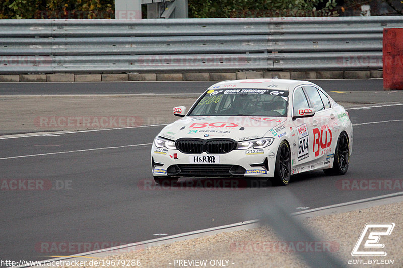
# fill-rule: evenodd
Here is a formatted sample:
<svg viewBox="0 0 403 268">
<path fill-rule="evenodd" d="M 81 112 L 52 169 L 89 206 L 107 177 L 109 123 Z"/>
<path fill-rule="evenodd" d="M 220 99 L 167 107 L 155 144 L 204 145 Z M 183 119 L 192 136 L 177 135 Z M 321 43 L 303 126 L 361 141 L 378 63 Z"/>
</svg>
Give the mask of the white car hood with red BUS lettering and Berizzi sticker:
<svg viewBox="0 0 403 268">
<path fill-rule="evenodd" d="M 264 137 L 270 129 L 282 124 L 286 119 L 286 117 L 258 116 L 184 117 L 163 128 L 158 136 L 170 140 L 184 137 L 250 140 Z M 267 137 L 271 136 L 271 133 L 267 134 Z"/>
</svg>

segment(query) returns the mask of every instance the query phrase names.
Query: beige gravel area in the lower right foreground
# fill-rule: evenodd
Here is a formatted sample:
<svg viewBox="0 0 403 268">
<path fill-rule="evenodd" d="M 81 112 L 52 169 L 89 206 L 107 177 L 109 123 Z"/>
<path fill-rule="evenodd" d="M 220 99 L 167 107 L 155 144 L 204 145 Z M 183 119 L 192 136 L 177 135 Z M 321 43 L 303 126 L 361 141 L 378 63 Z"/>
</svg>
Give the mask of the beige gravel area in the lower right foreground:
<svg viewBox="0 0 403 268">
<path fill-rule="evenodd" d="M 303 224 L 310 228 L 320 241 L 309 253 L 321 254 L 324 250 L 338 256 L 347 267 L 403 267 L 403 202 L 376 206 L 368 209 L 332 214 L 306 219 Z M 390 236 L 382 236 L 386 257 L 352 257 L 351 252 L 367 222 L 393 222 L 395 228 Z M 153 246 L 144 250 L 110 256 L 107 260 L 140 260 L 141 267 L 183 267 L 179 260 L 207 260 L 202 267 L 217 267 L 210 261 L 228 260 L 229 267 L 307 267 L 295 253 L 298 242 L 285 242 L 270 227 L 220 233 L 167 245 Z M 307 247 L 309 250 L 309 247 Z M 317 248 L 317 249 L 316 249 Z M 394 264 L 348 264 L 349 259 L 393 260 Z M 177 261 L 175 263 L 175 260 Z M 225 263 L 225 262 L 224 262 Z M 87 266 L 92 267 L 92 266 Z M 114 265 L 123 267 L 123 265 Z M 197 267 L 189 265 L 188 267 Z M 70 267 L 69 267 L 70 268 Z"/>
</svg>

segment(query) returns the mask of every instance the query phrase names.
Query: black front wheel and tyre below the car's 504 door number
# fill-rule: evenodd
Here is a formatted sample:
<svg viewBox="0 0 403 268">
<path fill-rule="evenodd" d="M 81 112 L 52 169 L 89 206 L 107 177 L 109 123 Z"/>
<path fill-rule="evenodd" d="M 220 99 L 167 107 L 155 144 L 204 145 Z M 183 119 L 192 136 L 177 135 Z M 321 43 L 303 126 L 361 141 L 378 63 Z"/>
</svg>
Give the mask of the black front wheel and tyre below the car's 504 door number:
<svg viewBox="0 0 403 268">
<path fill-rule="evenodd" d="M 273 185 L 287 185 L 291 177 L 291 153 L 290 146 L 283 140 L 277 149 L 274 177 L 271 178 Z"/>
</svg>

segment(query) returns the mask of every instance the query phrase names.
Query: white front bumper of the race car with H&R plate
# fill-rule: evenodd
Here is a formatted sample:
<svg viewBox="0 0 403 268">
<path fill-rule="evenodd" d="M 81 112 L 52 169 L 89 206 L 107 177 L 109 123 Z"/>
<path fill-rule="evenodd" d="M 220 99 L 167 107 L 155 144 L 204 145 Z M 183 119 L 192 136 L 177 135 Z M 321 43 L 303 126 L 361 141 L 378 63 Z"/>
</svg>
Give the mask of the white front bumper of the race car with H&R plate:
<svg viewBox="0 0 403 268">
<path fill-rule="evenodd" d="M 276 147 L 232 150 L 224 154 L 186 154 L 152 146 L 154 176 L 172 177 L 273 177 Z"/>
</svg>

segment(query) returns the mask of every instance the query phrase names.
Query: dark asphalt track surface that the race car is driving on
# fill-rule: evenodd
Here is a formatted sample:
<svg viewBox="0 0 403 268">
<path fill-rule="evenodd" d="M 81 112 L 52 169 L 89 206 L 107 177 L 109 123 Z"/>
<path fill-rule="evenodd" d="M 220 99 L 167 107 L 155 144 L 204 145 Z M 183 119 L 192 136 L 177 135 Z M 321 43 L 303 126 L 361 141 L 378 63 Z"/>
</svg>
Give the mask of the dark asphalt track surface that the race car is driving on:
<svg viewBox="0 0 403 268">
<path fill-rule="evenodd" d="M 304 173 L 286 187 L 257 187 L 253 181 L 237 188 L 206 187 L 205 181 L 192 179 L 181 179 L 179 187 L 155 187 L 150 143 L 163 126 L 0 137 L 3 182 L 33 180 L 56 188 L 0 191 L 1 259 L 44 260 L 77 252 L 48 252 L 43 245 L 124 244 L 252 220 L 259 217 L 253 212 L 256 202 L 270 206 L 272 197 L 285 191 L 299 200 L 283 201 L 293 212 L 402 191 L 337 187 L 341 178 L 401 178 L 403 105 L 349 114 L 356 125 L 348 173 Z M 400 121 L 384 122 L 389 120 Z"/>
</svg>

